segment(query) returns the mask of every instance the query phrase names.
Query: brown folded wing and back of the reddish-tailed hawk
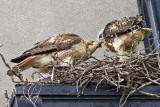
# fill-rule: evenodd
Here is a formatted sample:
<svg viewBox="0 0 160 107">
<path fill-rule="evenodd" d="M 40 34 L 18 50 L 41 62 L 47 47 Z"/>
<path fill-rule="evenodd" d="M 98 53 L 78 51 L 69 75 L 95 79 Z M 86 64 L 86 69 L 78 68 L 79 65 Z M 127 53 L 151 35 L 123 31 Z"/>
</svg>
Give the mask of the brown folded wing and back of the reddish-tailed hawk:
<svg viewBox="0 0 160 107">
<path fill-rule="evenodd" d="M 33 48 L 25 51 L 21 56 L 12 59 L 11 62 L 19 63 L 31 55 L 39 55 L 69 49 L 73 45 L 80 43 L 81 40 L 82 38 L 76 34 L 61 34 L 58 36 L 49 37 L 44 41 L 36 43 Z"/>
</svg>

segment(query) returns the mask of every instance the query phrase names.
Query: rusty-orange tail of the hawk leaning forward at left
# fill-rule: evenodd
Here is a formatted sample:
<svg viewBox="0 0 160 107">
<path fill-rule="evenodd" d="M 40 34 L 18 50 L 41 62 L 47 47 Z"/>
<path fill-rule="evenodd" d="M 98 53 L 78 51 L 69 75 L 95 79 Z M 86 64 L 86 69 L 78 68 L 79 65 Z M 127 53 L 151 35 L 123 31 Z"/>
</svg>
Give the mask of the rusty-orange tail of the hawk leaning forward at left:
<svg viewBox="0 0 160 107">
<path fill-rule="evenodd" d="M 27 68 L 32 67 L 31 61 L 33 60 L 35 56 L 30 56 L 24 60 L 22 60 L 20 63 L 18 63 L 16 66 L 13 67 L 13 70 L 15 73 L 21 72 L 26 70 Z M 12 70 L 7 71 L 8 76 L 14 76 L 14 73 Z"/>
</svg>

